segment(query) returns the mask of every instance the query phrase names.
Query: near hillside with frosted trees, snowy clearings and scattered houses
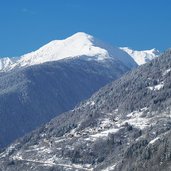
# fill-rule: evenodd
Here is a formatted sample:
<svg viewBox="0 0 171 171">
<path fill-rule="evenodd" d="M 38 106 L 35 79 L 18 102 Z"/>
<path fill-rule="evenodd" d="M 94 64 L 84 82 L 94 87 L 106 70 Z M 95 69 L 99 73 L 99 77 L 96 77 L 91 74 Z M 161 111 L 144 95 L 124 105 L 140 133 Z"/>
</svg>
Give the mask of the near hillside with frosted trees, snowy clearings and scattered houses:
<svg viewBox="0 0 171 171">
<path fill-rule="evenodd" d="M 171 50 L 0 154 L 2 171 L 169 171 Z"/>
</svg>

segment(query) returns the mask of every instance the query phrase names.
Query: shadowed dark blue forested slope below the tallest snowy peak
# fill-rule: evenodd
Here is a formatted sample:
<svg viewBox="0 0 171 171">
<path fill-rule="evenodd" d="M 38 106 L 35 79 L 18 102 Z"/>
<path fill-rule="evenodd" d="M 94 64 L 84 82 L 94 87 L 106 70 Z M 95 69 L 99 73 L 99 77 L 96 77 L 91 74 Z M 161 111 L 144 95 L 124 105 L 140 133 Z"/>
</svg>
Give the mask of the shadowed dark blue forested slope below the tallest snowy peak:
<svg viewBox="0 0 171 171">
<path fill-rule="evenodd" d="M 1 147 L 72 109 L 130 69 L 118 60 L 64 59 L 0 74 Z"/>
</svg>

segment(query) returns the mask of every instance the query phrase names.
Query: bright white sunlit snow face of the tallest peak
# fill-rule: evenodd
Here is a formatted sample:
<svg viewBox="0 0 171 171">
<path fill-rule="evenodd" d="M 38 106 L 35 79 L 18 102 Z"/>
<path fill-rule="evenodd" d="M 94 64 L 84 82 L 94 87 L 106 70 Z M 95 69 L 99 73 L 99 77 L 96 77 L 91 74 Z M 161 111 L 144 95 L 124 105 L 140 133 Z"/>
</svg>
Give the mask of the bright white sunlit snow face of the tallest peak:
<svg viewBox="0 0 171 171">
<path fill-rule="evenodd" d="M 94 38 L 86 33 L 76 33 L 64 40 L 54 40 L 35 52 L 23 55 L 19 60 L 22 66 L 40 64 L 48 61 L 57 61 L 77 56 L 108 57 L 105 49 L 93 45 Z"/>
</svg>

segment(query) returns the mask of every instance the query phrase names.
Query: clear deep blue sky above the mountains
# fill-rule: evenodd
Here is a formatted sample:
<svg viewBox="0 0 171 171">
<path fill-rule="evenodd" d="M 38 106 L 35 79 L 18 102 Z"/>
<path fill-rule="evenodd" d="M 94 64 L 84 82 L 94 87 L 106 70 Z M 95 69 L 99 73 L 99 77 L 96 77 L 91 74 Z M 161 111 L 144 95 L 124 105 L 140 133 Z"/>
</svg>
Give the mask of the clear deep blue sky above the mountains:
<svg viewBox="0 0 171 171">
<path fill-rule="evenodd" d="M 78 31 L 114 46 L 171 47 L 171 0 L 0 0 L 0 56 Z"/>
</svg>

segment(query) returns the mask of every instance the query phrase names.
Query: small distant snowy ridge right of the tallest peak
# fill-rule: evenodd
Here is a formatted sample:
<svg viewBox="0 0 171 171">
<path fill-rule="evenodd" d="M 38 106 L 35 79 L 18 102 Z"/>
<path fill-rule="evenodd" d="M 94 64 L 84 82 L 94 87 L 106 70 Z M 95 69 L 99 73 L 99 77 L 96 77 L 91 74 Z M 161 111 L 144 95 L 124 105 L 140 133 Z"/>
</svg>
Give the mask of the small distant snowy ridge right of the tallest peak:
<svg viewBox="0 0 171 171">
<path fill-rule="evenodd" d="M 138 65 L 145 64 L 160 55 L 160 52 L 156 49 L 144 51 L 132 50 L 128 47 L 121 47 L 120 49 L 128 53 Z"/>
</svg>

